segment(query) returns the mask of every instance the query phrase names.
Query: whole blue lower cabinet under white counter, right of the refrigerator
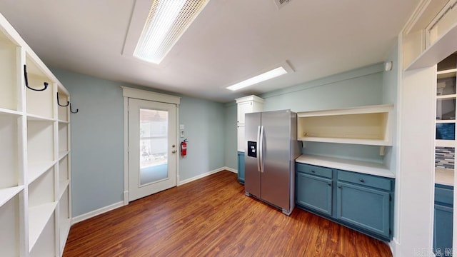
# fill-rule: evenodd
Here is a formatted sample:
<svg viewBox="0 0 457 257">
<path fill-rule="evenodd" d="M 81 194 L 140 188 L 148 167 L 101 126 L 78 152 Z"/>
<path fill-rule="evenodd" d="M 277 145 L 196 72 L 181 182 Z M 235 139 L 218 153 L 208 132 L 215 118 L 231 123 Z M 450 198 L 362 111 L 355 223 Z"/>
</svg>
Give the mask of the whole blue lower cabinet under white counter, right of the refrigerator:
<svg viewBox="0 0 457 257">
<path fill-rule="evenodd" d="M 296 163 L 296 206 L 382 241 L 393 237 L 395 180 Z"/>
</svg>

